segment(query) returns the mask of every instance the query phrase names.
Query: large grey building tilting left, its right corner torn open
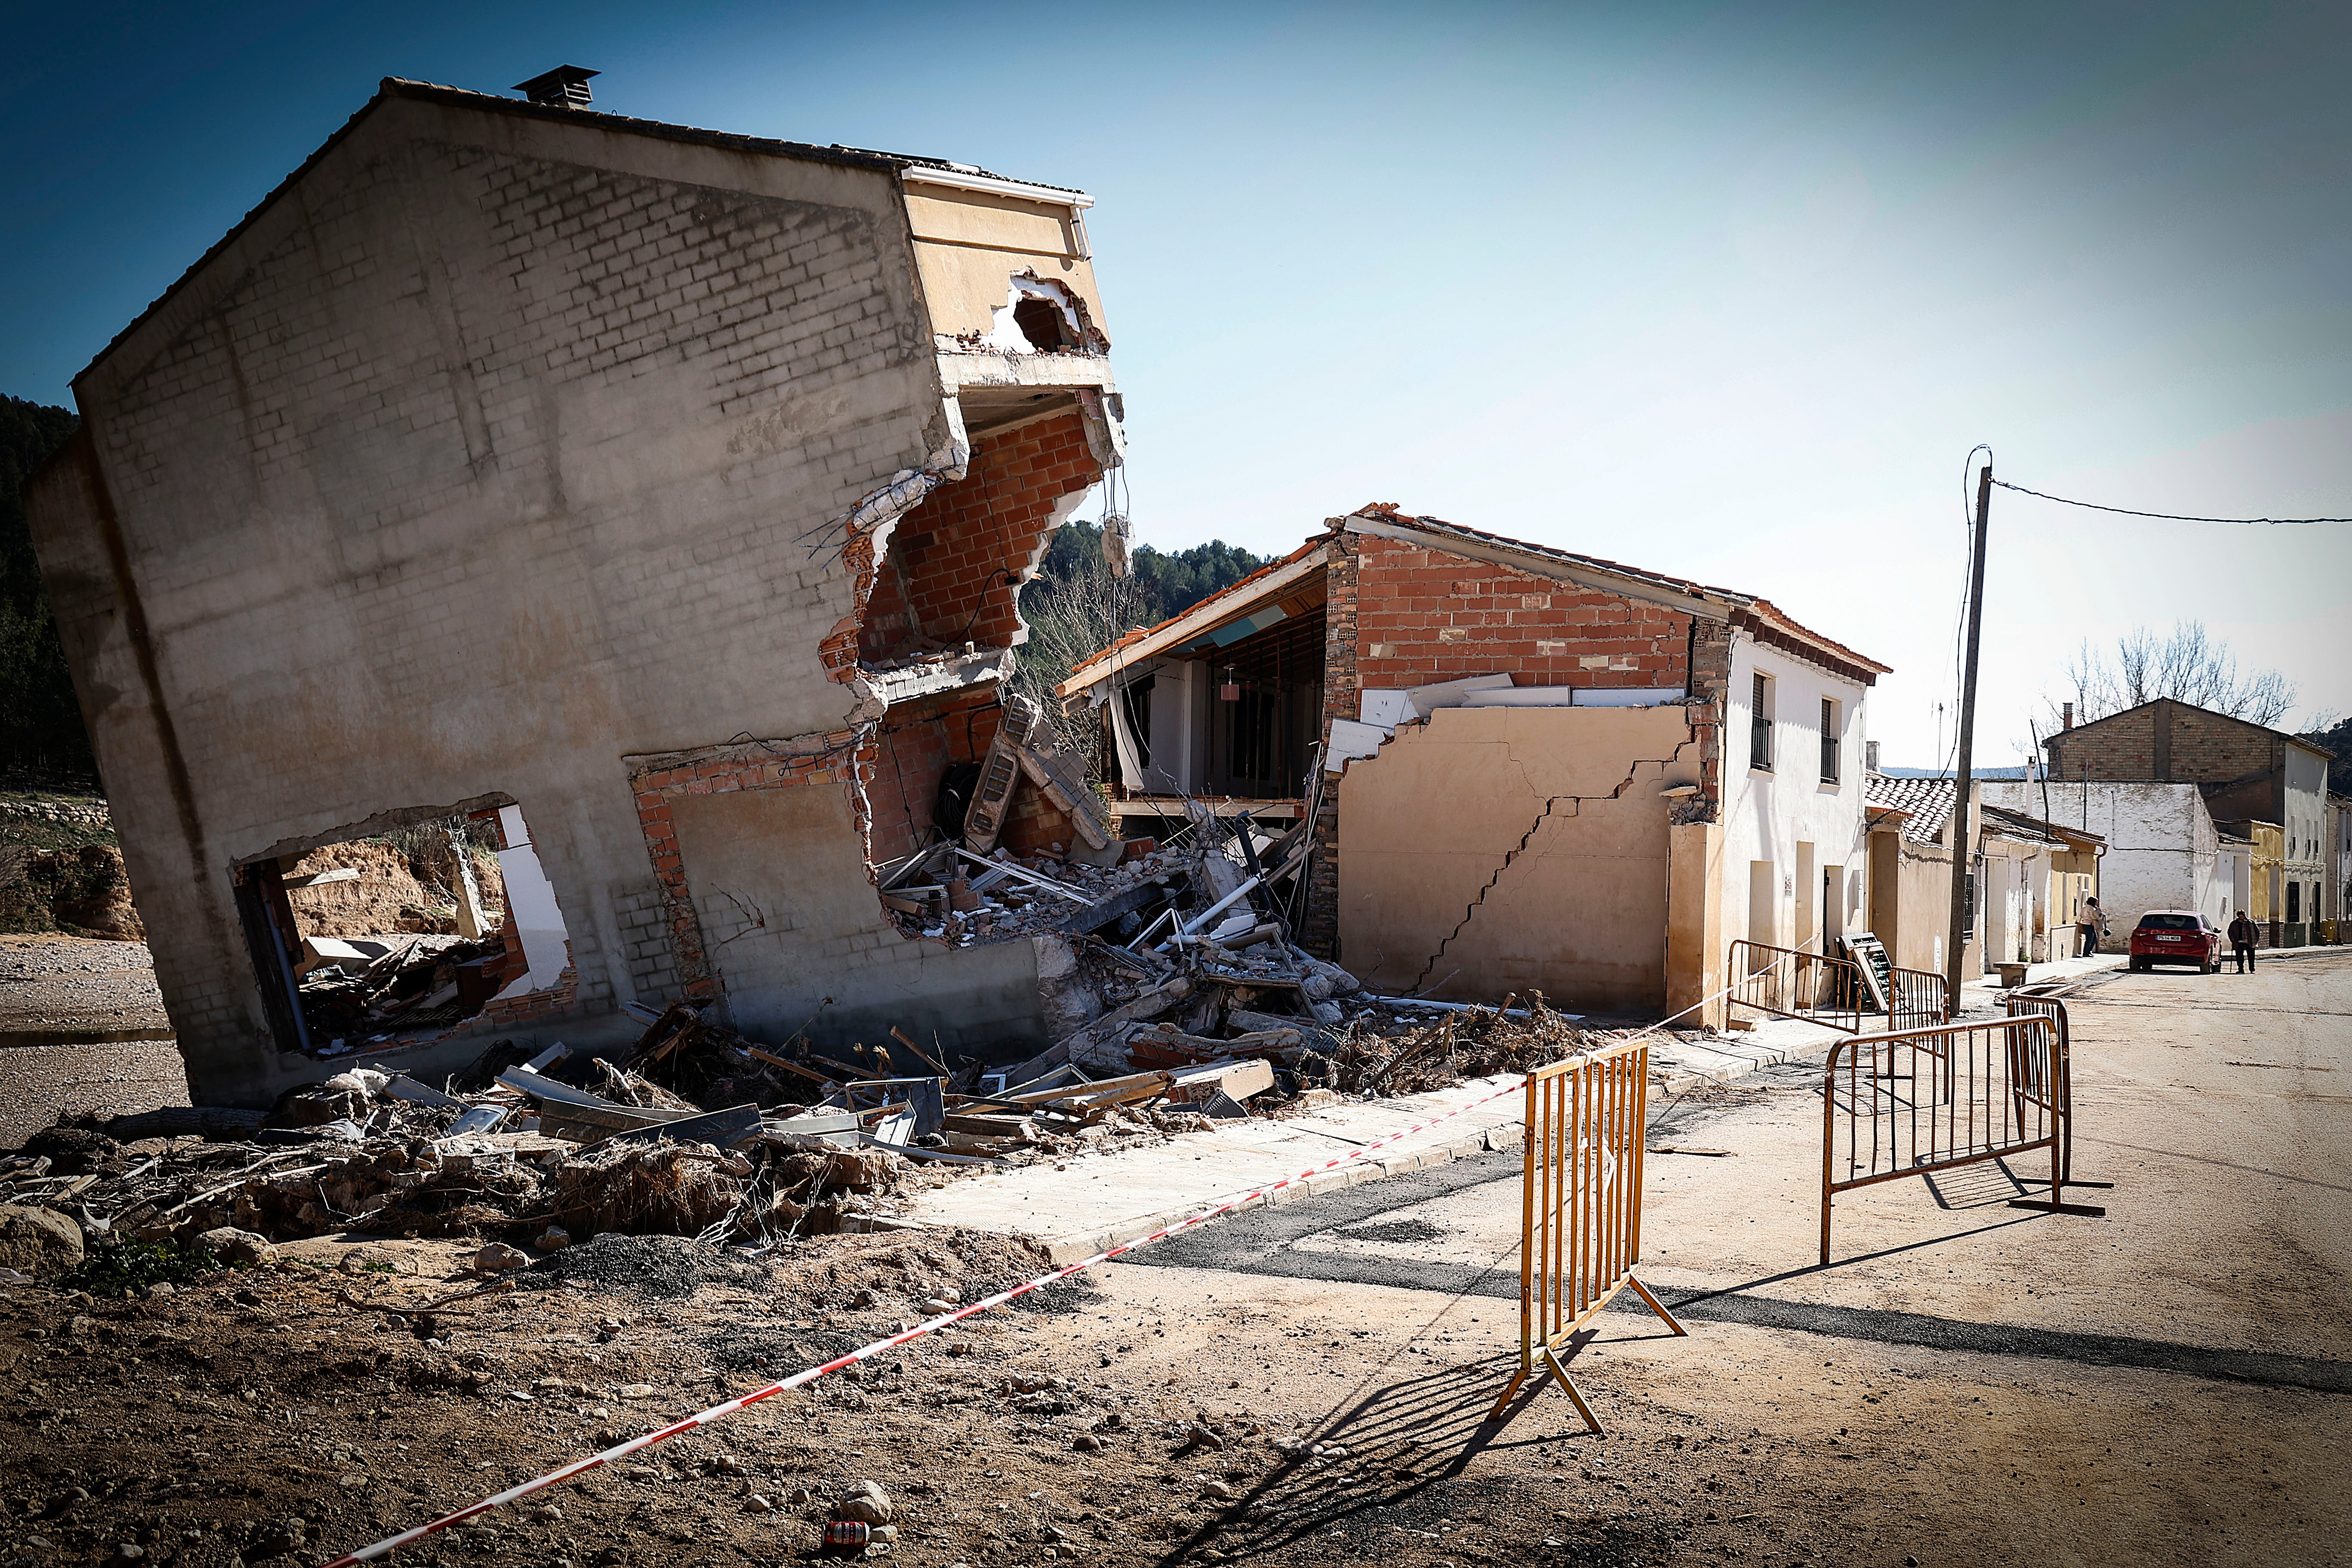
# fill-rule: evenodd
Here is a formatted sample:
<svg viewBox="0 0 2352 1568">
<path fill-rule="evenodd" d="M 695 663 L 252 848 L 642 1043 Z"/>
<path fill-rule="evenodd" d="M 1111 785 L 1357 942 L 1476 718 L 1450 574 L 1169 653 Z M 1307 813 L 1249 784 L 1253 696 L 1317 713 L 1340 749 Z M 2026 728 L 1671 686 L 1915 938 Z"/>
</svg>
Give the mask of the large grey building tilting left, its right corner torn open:
<svg viewBox="0 0 2352 1568">
<path fill-rule="evenodd" d="M 1089 197 L 588 75 L 386 80 L 75 378 L 31 487 L 198 1103 L 675 997 L 948 1048 L 1087 1009 L 1063 943 L 927 940 L 873 865 L 990 755 L 1018 585 L 1120 463 Z M 320 950 L 322 851 L 426 830 L 452 926 Z M 997 823 L 1073 832 L 1040 790 Z"/>
</svg>

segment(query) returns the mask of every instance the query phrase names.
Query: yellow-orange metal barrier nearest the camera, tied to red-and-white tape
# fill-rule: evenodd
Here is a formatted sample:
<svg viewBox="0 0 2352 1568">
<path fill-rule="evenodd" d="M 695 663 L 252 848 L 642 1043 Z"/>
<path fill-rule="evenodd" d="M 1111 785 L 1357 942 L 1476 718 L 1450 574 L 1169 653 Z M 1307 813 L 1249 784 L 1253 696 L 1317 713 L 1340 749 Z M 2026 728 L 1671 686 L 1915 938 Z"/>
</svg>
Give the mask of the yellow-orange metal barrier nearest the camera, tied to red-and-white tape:
<svg viewBox="0 0 2352 1568">
<path fill-rule="evenodd" d="M 1632 1286 L 1675 1333 L 1686 1333 L 1632 1274 L 1642 1260 L 1642 1138 L 1649 1046 L 1623 1044 L 1526 1074 L 1526 1154 L 1519 1178 L 1519 1371 L 1494 1401 L 1503 1413 L 1529 1378 L 1550 1373 L 1599 1432 L 1576 1392 L 1562 1345 Z M 1491 1418 L 1489 1418 L 1491 1420 Z"/>
</svg>

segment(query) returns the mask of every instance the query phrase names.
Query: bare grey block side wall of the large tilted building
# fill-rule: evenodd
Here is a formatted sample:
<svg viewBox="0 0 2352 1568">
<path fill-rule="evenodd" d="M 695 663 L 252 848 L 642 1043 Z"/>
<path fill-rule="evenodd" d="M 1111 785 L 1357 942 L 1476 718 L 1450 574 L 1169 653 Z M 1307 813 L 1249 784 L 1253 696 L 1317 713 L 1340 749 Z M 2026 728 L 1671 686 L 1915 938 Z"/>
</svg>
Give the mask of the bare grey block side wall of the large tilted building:
<svg viewBox="0 0 2352 1568">
<path fill-rule="evenodd" d="M 950 435 L 887 169 L 402 96 L 78 397 L 38 548 L 191 1086 L 245 1103 L 318 1063 L 268 1037 L 230 867 L 388 811 L 520 802 L 550 1027 L 666 999 L 623 757 L 844 729 L 849 571 L 802 536 Z M 854 839 L 823 879 L 866 922 L 823 961 L 962 985 Z"/>
</svg>

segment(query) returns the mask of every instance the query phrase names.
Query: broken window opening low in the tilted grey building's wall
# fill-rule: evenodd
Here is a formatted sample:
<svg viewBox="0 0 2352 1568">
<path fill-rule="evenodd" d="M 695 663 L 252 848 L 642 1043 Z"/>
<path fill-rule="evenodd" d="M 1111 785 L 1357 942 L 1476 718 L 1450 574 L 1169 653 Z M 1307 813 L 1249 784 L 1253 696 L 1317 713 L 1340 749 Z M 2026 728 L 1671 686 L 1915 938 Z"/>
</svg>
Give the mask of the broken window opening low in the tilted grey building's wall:
<svg viewBox="0 0 2352 1568">
<path fill-rule="evenodd" d="M 569 936 L 520 806 L 421 813 L 249 860 L 230 879 L 287 1051 L 435 1039 L 569 978 Z"/>
</svg>

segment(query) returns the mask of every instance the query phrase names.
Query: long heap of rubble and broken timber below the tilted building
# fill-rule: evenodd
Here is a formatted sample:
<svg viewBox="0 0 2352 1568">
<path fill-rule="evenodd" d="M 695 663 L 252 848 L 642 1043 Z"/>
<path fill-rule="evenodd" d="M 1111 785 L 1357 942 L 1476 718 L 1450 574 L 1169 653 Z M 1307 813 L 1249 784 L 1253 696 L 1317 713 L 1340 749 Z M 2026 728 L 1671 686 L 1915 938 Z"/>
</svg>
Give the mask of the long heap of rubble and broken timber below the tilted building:
<svg viewBox="0 0 2352 1568">
<path fill-rule="evenodd" d="M 61 1232 L 16 1227 L 35 1241 L 19 1248 L 26 1272 L 120 1246 L 254 1262 L 322 1234 L 470 1237 L 485 1274 L 607 1234 L 771 1255 L 894 1229 L 913 1192 L 978 1171 L 1437 1088 L 1592 1039 L 1541 997 L 1498 1011 L 1369 997 L 1287 940 L 1225 825 L 1200 827 L 1188 851 L 1152 846 L 1122 867 L 974 858 L 1004 886 L 1068 889 L 1056 914 L 1094 1018 L 1025 1060 L 950 1063 L 903 1030 L 842 1060 L 807 1032 L 757 1041 L 677 1001 L 640 1009 L 644 1032 L 619 1060 L 499 1041 L 442 1084 L 355 1065 L 270 1112 L 61 1121 L 0 1157 L 0 1204 Z M 461 952 L 414 936 L 336 985 L 430 1006 Z"/>
</svg>

